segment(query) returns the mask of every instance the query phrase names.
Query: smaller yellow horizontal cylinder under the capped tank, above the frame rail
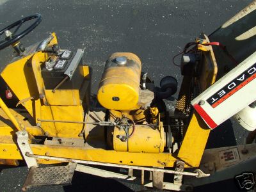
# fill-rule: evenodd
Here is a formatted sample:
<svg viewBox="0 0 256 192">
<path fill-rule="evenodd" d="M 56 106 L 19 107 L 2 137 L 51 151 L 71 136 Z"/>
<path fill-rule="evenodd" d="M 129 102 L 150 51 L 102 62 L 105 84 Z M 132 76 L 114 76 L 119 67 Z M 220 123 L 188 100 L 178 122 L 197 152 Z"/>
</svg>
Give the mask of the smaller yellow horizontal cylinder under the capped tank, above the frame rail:
<svg viewBox="0 0 256 192">
<path fill-rule="evenodd" d="M 136 125 L 134 132 L 127 140 L 120 140 L 120 136 L 125 136 L 124 129 L 115 127 L 113 132 L 113 148 L 115 151 L 161 153 L 166 146 L 166 133 L 162 124 L 153 128 L 148 125 Z"/>
</svg>

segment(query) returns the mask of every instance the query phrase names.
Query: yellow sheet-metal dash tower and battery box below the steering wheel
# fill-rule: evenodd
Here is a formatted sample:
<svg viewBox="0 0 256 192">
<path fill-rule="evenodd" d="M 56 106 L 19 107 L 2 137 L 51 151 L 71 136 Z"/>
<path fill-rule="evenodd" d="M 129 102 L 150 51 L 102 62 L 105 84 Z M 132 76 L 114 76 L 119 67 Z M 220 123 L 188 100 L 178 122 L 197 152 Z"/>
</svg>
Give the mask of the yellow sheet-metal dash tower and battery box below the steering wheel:
<svg viewBox="0 0 256 192">
<path fill-rule="evenodd" d="M 58 43 L 55 33 L 52 35 L 54 38 L 49 45 Z M 45 90 L 41 67 L 47 58 L 47 53 L 35 52 L 7 65 L 1 76 L 19 100 L 33 98 L 21 103 L 35 122 L 41 124 L 40 127 L 42 127 L 42 129 L 39 127 L 32 129 L 28 126 L 30 134 L 44 135 L 47 132 L 49 136 L 77 138 L 83 129 L 83 124 L 38 122 L 38 119 L 81 122 L 84 115 L 79 90 L 56 90 L 55 93 Z M 88 78 L 88 66 L 81 67 L 79 71 L 85 78 Z M 14 119 L 13 122 L 15 123 Z M 15 123 L 16 127 L 18 125 L 19 123 Z"/>
</svg>

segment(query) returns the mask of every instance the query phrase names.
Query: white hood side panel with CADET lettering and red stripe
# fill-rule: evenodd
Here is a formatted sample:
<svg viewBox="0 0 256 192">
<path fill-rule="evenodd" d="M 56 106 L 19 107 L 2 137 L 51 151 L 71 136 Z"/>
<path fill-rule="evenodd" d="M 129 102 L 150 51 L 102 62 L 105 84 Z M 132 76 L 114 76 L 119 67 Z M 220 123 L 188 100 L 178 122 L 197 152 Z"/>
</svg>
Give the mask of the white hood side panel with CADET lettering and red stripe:
<svg viewBox="0 0 256 192">
<path fill-rule="evenodd" d="M 211 129 L 256 100 L 256 52 L 198 95 L 191 104 Z"/>
</svg>

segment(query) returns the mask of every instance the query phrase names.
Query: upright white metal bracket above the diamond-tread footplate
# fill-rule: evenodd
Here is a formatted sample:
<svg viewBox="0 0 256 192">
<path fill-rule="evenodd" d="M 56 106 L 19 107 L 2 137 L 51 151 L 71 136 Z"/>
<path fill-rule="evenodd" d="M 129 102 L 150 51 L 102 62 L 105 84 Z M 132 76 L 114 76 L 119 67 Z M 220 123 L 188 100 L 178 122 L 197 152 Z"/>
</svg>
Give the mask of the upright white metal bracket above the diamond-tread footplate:
<svg viewBox="0 0 256 192">
<path fill-rule="evenodd" d="M 30 145 L 28 143 L 28 132 L 26 131 L 18 131 L 17 134 L 17 143 L 20 148 L 20 152 L 22 153 L 22 156 L 24 160 L 26 161 L 28 168 L 31 168 L 32 166 L 38 167 L 38 164 L 36 162 L 36 159 L 34 157 L 28 157 L 26 156 L 26 153 L 33 154 Z"/>
</svg>

